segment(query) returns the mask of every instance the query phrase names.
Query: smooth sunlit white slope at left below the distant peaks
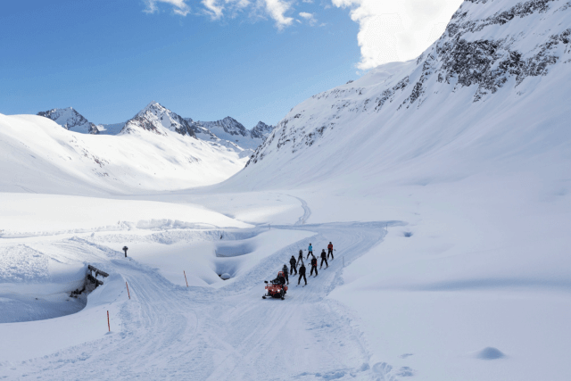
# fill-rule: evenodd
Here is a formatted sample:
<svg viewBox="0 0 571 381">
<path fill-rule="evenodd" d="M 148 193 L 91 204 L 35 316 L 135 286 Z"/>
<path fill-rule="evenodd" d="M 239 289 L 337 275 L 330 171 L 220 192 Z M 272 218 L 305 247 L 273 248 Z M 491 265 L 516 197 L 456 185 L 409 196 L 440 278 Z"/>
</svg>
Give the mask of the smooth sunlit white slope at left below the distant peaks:
<svg viewBox="0 0 571 381">
<path fill-rule="evenodd" d="M 189 136 L 185 124 L 168 121 L 165 128 L 148 112 L 156 119 L 139 115 L 118 136 L 78 134 L 43 117 L 0 114 L 0 191 L 177 189 L 217 183 L 244 167 L 236 150 Z"/>
</svg>

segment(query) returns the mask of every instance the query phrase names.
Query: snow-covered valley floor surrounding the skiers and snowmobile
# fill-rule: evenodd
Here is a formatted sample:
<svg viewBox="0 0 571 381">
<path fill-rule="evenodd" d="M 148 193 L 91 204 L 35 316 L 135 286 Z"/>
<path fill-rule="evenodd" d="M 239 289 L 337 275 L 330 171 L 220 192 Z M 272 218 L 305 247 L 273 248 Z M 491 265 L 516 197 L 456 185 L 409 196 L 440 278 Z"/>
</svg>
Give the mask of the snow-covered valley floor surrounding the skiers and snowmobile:
<svg viewBox="0 0 571 381">
<path fill-rule="evenodd" d="M 568 200 L 537 199 L 536 186 L 510 197 L 511 180 L 359 197 L 327 184 L 132 201 L 3 194 L 3 211 L 15 202 L 30 226 L 0 238 L 0 377 L 565 380 Z M 81 203 L 91 226 L 75 221 Z M 335 260 L 319 277 L 261 299 L 291 255 L 328 241 Z M 70 314 L 81 301 L 62 291 L 87 264 L 111 275 Z"/>
</svg>

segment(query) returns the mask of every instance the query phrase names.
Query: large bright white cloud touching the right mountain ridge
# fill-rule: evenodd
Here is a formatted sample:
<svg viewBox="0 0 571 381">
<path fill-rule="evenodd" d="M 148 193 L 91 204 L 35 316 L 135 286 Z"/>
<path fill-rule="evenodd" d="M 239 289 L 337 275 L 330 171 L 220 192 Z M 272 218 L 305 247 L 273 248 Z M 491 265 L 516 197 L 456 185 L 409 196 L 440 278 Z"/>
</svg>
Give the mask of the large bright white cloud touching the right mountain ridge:
<svg viewBox="0 0 571 381">
<path fill-rule="evenodd" d="M 418 57 L 443 33 L 463 0 L 331 0 L 360 25 L 359 68 Z"/>
</svg>

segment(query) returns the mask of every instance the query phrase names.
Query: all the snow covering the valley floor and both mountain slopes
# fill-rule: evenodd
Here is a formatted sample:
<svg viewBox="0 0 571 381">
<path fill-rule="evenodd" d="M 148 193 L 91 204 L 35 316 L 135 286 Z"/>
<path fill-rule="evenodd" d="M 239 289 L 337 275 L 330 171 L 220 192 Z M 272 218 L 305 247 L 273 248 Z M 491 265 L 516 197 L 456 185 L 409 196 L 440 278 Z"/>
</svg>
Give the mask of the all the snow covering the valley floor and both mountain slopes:
<svg viewBox="0 0 571 381">
<path fill-rule="evenodd" d="M 0 377 L 567 380 L 571 7 L 501 23 L 516 4 L 465 2 L 421 59 L 294 107 L 219 184 L 184 189 L 188 170 L 111 187 L 58 159 L 75 145 L 99 153 L 102 137 L 0 116 L 0 316 L 13 321 L 0 324 Z M 487 69 L 450 68 L 464 46 L 453 36 L 509 46 L 472 52 Z M 516 50 L 533 66 L 546 41 L 558 59 L 540 71 L 494 71 Z M 118 138 L 158 161 L 214 150 L 147 130 Z M 154 174 L 137 169 L 154 165 L 145 158 L 116 170 Z M 330 241 L 335 260 L 308 286 L 292 276 L 284 301 L 261 299 L 292 255 Z M 85 308 L 34 306 L 87 264 L 110 277 Z"/>
</svg>

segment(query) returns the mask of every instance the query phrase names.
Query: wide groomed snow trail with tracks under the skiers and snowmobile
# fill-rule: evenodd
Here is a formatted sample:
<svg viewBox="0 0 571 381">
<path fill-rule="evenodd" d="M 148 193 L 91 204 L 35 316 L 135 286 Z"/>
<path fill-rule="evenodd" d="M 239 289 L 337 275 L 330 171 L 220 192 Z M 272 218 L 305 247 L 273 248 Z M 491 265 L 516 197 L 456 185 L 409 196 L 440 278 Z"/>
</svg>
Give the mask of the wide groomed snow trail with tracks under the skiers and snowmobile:
<svg viewBox="0 0 571 381">
<path fill-rule="evenodd" d="M 385 236 L 385 225 L 277 226 L 315 235 L 220 289 L 175 286 L 154 269 L 114 257 L 107 267 L 128 281 L 132 298 L 119 304 L 120 325 L 95 342 L 0 369 L 0 377 L 7 371 L 18 379 L 377 379 L 351 311 L 327 294 L 343 284 L 341 256 L 349 264 L 367 253 Z M 308 277 L 306 287 L 290 277 L 285 301 L 261 299 L 263 280 L 275 277 L 287 258 L 309 242 L 319 254 L 329 241 L 337 251 L 328 269 Z"/>
</svg>

